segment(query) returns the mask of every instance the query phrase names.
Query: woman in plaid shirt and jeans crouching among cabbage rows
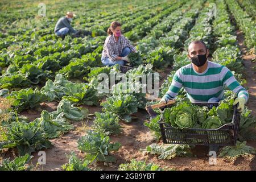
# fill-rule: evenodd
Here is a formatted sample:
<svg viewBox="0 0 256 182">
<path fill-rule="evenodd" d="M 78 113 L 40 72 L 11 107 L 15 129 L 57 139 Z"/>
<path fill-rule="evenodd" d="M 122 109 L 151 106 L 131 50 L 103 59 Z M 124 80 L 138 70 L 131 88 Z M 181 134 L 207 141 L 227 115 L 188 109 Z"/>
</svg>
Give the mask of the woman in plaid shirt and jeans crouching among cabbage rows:
<svg viewBox="0 0 256 182">
<path fill-rule="evenodd" d="M 125 65 L 126 61 L 129 61 L 129 53 L 136 52 L 136 49 L 121 34 L 121 23 L 112 22 L 108 34 L 102 52 L 102 63 L 109 66 L 114 64 Z"/>
</svg>

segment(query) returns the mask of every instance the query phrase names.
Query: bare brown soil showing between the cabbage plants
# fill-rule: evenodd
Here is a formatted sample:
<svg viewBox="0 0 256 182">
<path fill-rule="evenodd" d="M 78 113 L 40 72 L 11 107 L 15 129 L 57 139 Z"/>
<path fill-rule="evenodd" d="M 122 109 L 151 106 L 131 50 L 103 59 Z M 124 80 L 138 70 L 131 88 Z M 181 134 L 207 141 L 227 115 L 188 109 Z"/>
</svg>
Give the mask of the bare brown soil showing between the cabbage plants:
<svg viewBox="0 0 256 182">
<path fill-rule="evenodd" d="M 256 116 L 256 83 L 255 83 L 255 73 L 252 71 L 251 67 L 255 63 L 251 63 L 253 55 L 246 55 L 245 47 L 243 46 L 243 37 L 240 31 L 237 31 L 238 43 L 243 51 L 243 60 L 246 67 L 246 80 L 247 87 L 250 93 L 249 109 L 253 110 L 253 114 Z M 255 55 L 254 55 L 255 56 Z M 165 72 L 160 73 L 163 80 L 167 77 L 170 69 Z M 162 84 L 163 81 L 160 82 Z M 56 110 L 57 102 L 46 102 L 42 104 L 41 109 L 48 111 Z M 89 109 L 89 112 L 93 114 L 95 111 L 101 111 L 100 107 L 93 106 L 83 106 Z M 31 120 L 36 117 L 40 117 L 40 110 L 24 111 L 22 113 L 26 115 Z M 196 146 L 192 150 L 192 158 L 181 158 L 176 157 L 171 160 L 160 160 L 155 155 L 144 154 L 141 149 L 146 148 L 146 146 L 154 143 L 154 138 L 152 137 L 150 130 L 143 125 L 143 122 L 147 119 L 148 114 L 145 110 L 139 110 L 135 113 L 137 120 L 131 123 L 121 122 L 122 133 L 116 136 L 111 136 L 113 142 L 120 142 L 122 147 L 114 152 L 113 156 L 116 157 L 117 162 L 113 164 L 105 165 L 104 163 L 93 164 L 94 167 L 100 167 L 104 170 L 117 170 L 119 164 L 130 162 L 131 159 L 147 160 L 147 163 L 154 162 L 163 168 L 175 168 L 177 170 L 256 170 L 256 158 L 253 159 L 243 159 L 238 158 L 235 162 L 228 162 L 222 158 L 217 158 L 217 165 L 210 165 L 209 158 L 207 157 L 208 147 Z M 71 151 L 75 151 L 77 155 L 82 158 L 84 154 L 77 148 L 77 139 L 85 134 L 85 131 L 90 129 L 93 123 L 93 117 L 88 119 L 88 121 L 75 122 L 75 130 L 64 134 L 60 138 L 52 139 L 52 148 L 46 151 L 46 165 L 38 167 L 38 170 L 61 170 L 61 166 L 68 163 L 67 154 Z M 247 142 L 249 146 L 256 147 L 256 142 Z M 32 154 L 34 158 L 32 163 L 36 164 L 38 162 L 38 153 Z M 11 152 L 5 154 L 4 158 L 11 156 Z"/>
</svg>

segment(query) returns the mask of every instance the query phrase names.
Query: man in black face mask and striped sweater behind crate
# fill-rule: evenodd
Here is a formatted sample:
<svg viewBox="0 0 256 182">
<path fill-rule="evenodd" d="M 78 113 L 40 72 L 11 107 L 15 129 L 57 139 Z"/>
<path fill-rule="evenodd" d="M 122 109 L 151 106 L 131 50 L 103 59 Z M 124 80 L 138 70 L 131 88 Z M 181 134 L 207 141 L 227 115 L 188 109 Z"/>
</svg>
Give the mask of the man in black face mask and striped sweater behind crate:
<svg viewBox="0 0 256 182">
<path fill-rule="evenodd" d="M 219 102 L 224 99 L 224 89 L 227 87 L 237 94 L 234 105 L 238 110 L 243 108 L 249 94 L 241 86 L 232 72 L 223 65 L 208 61 L 209 49 L 201 40 L 195 40 L 188 46 L 188 57 L 191 64 L 185 65 L 176 71 L 172 84 L 162 102 L 175 98 L 183 86 L 191 102 Z M 217 151 L 218 147 L 210 148 Z"/>
</svg>

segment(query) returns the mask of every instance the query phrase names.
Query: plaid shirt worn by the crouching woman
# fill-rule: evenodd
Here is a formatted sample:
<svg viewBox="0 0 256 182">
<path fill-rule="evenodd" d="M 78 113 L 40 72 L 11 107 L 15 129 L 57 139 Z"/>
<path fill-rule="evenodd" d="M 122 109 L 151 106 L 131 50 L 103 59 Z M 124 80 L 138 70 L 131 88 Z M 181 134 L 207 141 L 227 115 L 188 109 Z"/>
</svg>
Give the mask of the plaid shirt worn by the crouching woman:
<svg viewBox="0 0 256 182">
<path fill-rule="evenodd" d="M 119 37 L 118 42 L 115 41 L 114 35 L 109 35 L 105 40 L 102 56 L 109 57 L 112 61 L 114 61 L 118 56 L 121 55 L 122 50 L 125 47 L 129 47 L 131 52 L 136 51 L 129 40 L 127 40 L 123 35 Z"/>
</svg>

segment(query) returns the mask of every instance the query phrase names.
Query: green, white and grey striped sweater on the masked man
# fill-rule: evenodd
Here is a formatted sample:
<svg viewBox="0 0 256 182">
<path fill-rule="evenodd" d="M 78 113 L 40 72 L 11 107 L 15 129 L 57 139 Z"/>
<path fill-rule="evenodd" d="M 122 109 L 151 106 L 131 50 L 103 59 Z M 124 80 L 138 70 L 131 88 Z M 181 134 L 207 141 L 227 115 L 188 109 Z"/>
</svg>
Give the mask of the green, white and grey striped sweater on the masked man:
<svg viewBox="0 0 256 182">
<path fill-rule="evenodd" d="M 249 98 L 248 92 L 237 82 L 232 72 L 212 61 L 208 61 L 208 67 L 203 73 L 197 73 L 192 63 L 177 70 L 163 98 L 170 100 L 176 97 L 182 86 L 191 102 L 208 102 L 213 97 L 223 100 L 226 87 L 238 97 L 245 98 L 246 102 Z"/>
</svg>

